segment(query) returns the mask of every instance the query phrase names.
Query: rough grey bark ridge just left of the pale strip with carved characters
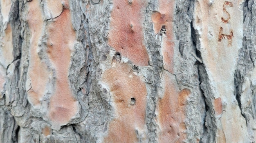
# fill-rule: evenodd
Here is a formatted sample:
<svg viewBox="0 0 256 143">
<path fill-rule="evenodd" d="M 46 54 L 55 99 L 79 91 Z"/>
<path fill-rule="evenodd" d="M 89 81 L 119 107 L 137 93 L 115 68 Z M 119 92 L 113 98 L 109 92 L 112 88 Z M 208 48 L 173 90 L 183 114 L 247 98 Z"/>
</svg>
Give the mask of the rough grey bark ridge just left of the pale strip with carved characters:
<svg viewBox="0 0 256 143">
<path fill-rule="evenodd" d="M 206 117 L 206 113 L 209 112 L 205 111 L 205 108 L 208 108 L 208 105 L 205 103 L 207 97 L 202 91 L 202 87 L 200 88 L 203 79 L 202 76 L 206 76 L 207 74 L 203 74 L 204 67 L 200 53 L 200 37 L 198 31 L 193 27 L 193 24 L 195 23 L 194 3 L 195 1 L 193 0 L 178 0 L 176 2 L 173 27 L 176 40 L 179 42 L 177 50 L 175 50 L 177 51 L 177 54 L 180 54 L 178 55 L 179 57 L 177 57 L 180 58 L 180 60 L 175 65 L 175 72 L 177 72 L 177 83 L 189 87 L 192 91 L 188 99 L 190 102 L 188 102 L 188 105 L 186 106 L 186 119 L 195 122 L 195 125 L 191 126 L 190 123 L 185 122 L 187 126 L 186 141 L 198 142 L 199 140 L 202 141 L 202 138 L 204 137 L 205 141 L 210 142 L 211 139 L 213 140 L 214 135 L 211 135 L 211 132 L 207 132 L 207 128 L 211 127 L 206 125 L 206 121 L 211 122 L 213 119 L 211 119 L 211 116 L 209 115 L 209 117 Z M 198 104 L 198 106 L 195 106 L 195 104 Z M 193 117 L 191 117 L 191 114 Z M 209 137 L 207 134 L 210 134 Z"/>
</svg>

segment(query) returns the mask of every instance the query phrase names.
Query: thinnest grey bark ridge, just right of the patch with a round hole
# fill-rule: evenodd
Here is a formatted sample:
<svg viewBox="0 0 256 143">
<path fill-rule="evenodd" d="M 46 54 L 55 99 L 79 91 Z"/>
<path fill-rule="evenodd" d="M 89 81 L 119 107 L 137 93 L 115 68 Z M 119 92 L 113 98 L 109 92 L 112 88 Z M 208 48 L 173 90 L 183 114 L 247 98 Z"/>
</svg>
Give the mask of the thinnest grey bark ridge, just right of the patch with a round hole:
<svg viewBox="0 0 256 143">
<path fill-rule="evenodd" d="M 149 5 L 146 8 L 146 14 L 145 14 L 145 32 L 144 37 L 146 41 L 146 48 L 148 49 L 148 53 L 151 55 L 152 63 L 150 65 L 153 69 L 153 83 L 150 84 L 150 93 L 147 95 L 147 105 L 146 105 L 146 126 L 148 128 L 148 136 L 149 136 L 149 142 L 155 143 L 157 142 L 157 125 L 155 121 L 155 108 L 156 108 L 156 99 L 157 99 L 157 90 L 159 90 L 159 83 L 161 82 L 161 78 L 159 75 L 160 70 L 162 69 L 163 65 L 163 59 L 162 55 L 159 52 L 159 48 L 161 48 L 160 45 L 157 44 L 155 37 L 151 35 L 151 33 L 154 33 L 153 31 L 153 24 L 151 23 L 150 17 L 151 13 L 153 12 L 152 9 L 154 9 L 154 6 L 152 3 L 149 3 Z"/>
</svg>

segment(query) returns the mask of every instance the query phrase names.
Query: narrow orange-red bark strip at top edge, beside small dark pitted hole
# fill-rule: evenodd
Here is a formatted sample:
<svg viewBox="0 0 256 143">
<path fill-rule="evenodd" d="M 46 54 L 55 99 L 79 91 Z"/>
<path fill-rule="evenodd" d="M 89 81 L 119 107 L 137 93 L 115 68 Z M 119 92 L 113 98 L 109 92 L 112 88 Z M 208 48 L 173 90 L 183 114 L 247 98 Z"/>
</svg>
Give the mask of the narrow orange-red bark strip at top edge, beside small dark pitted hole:
<svg viewBox="0 0 256 143">
<path fill-rule="evenodd" d="M 154 31 L 157 34 L 162 26 L 166 28 L 166 36 L 163 41 L 163 62 L 164 69 L 173 73 L 173 53 L 174 53 L 174 32 L 173 32 L 173 9 L 174 0 L 159 0 L 159 11 L 152 14 L 151 19 L 154 24 Z"/>
</svg>

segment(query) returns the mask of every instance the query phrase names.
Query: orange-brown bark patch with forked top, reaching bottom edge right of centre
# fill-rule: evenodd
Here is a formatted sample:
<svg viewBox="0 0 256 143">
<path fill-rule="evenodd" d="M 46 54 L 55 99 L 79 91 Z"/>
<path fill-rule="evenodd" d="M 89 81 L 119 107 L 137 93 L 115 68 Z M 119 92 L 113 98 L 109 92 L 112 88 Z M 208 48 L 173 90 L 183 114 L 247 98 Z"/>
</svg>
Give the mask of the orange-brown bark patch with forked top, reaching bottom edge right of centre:
<svg viewBox="0 0 256 143">
<path fill-rule="evenodd" d="M 164 97 L 159 100 L 159 143 L 181 143 L 186 139 L 186 99 L 190 94 L 189 89 L 175 87 L 170 76 L 164 76 Z"/>
</svg>

